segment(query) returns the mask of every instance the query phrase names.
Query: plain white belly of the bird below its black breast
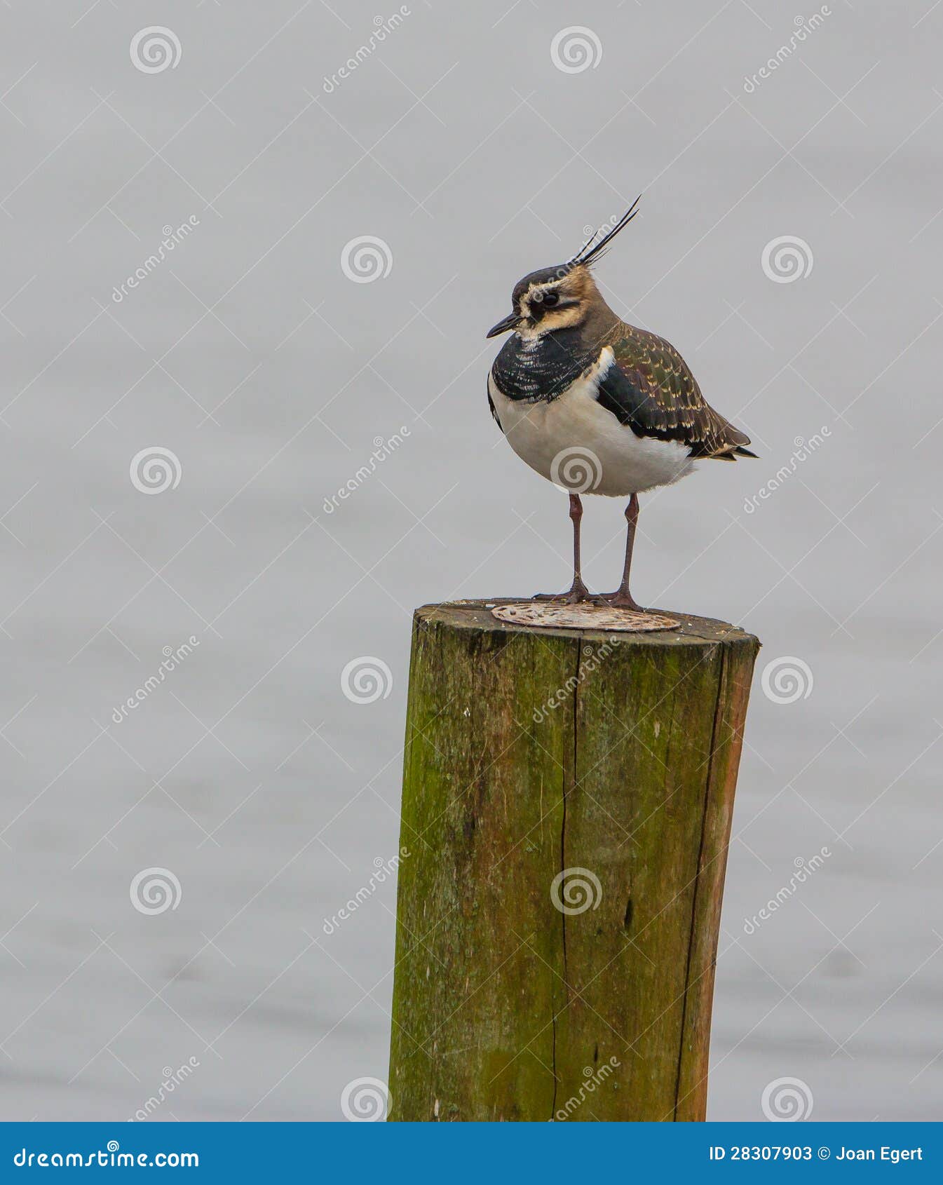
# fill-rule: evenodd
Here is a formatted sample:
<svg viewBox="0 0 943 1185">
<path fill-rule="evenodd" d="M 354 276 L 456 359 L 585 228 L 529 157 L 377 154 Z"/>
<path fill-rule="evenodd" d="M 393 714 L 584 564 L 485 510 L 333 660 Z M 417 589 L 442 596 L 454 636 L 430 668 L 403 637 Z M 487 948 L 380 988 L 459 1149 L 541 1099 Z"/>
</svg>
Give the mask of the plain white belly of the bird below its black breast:
<svg viewBox="0 0 943 1185">
<path fill-rule="evenodd" d="M 571 384 L 550 403 L 524 403 L 502 395 L 488 377 L 488 391 L 507 441 L 532 469 L 579 494 L 628 498 L 679 481 L 694 468 L 687 444 L 636 436 L 596 402 L 603 365 Z"/>
</svg>

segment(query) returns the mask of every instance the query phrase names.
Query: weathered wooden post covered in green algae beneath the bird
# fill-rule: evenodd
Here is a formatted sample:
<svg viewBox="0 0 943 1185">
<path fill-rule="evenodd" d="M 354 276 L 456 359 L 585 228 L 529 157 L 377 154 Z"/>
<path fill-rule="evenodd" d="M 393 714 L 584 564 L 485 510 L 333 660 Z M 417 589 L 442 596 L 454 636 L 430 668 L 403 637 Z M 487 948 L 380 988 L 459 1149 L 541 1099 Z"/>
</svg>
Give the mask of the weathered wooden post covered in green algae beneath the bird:
<svg viewBox="0 0 943 1185">
<path fill-rule="evenodd" d="M 703 1120 L 759 642 L 416 611 L 393 1120 Z"/>
</svg>

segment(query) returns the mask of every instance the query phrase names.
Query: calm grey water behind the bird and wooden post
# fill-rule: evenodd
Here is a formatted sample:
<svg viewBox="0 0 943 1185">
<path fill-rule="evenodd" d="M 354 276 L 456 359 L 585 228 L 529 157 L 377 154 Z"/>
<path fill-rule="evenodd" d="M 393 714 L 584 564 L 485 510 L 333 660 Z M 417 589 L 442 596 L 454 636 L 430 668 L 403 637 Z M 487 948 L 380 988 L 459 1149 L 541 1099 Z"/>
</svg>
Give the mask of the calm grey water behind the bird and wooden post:
<svg viewBox="0 0 943 1185">
<path fill-rule="evenodd" d="M 392 880 L 323 920 L 397 848 L 411 609 L 569 581 L 565 499 L 490 421 L 483 334 L 642 191 L 604 292 L 761 454 L 644 498 L 636 547 L 646 603 L 764 643 L 708 1114 L 762 1119 L 796 1077 L 814 1120 L 939 1119 L 943 8 L 834 0 L 750 91 L 817 9 L 406 7 L 331 92 L 394 7 L 0 11 L 0 1113 L 124 1120 L 190 1058 L 155 1119 L 339 1119 L 386 1078 Z M 145 73 L 152 25 L 182 55 Z M 572 25 L 602 46 L 580 72 L 550 53 Z M 355 283 L 365 235 L 392 267 Z M 780 236 L 814 258 L 795 282 L 764 274 Z M 149 497 L 153 446 L 180 480 Z M 622 530 L 586 499 L 596 588 Z M 342 694 L 359 656 L 386 698 Z M 782 658 L 806 698 L 764 694 Z M 133 908 L 148 867 L 175 909 Z"/>
</svg>

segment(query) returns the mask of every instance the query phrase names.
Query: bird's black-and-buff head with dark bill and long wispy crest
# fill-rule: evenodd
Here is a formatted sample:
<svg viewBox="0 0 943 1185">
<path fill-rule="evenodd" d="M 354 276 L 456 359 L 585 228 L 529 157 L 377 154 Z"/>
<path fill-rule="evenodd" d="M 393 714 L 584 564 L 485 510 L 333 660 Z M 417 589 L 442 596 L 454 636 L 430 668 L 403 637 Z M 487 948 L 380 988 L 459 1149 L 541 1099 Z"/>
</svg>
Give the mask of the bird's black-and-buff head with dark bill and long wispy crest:
<svg viewBox="0 0 943 1185">
<path fill-rule="evenodd" d="M 513 309 L 486 337 L 496 338 L 515 329 L 522 338 L 543 338 L 554 329 L 579 326 L 603 302 L 590 273 L 607 245 L 637 213 L 639 198 L 616 225 L 598 242 L 598 231 L 566 263 L 541 268 L 519 280 L 511 294 Z"/>
</svg>

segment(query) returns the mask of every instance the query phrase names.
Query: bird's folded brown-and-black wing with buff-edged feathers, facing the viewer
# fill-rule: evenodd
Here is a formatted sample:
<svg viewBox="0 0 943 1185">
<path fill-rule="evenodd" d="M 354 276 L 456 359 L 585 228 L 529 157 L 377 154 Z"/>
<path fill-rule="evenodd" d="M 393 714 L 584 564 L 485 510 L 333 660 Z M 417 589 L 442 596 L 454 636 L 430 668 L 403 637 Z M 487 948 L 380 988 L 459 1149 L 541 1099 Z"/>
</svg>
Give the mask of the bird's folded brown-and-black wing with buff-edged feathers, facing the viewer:
<svg viewBox="0 0 943 1185">
<path fill-rule="evenodd" d="M 705 401 L 694 376 L 671 342 L 623 326 L 607 345 L 615 363 L 599 383 L 598 402 L 635 433 L 687 444 L 691 456 L 749 456 L 750 437 Z"/>
</svg>

